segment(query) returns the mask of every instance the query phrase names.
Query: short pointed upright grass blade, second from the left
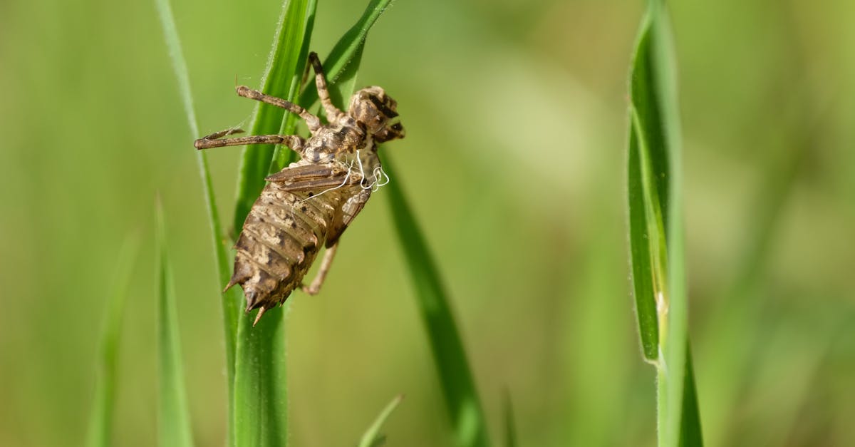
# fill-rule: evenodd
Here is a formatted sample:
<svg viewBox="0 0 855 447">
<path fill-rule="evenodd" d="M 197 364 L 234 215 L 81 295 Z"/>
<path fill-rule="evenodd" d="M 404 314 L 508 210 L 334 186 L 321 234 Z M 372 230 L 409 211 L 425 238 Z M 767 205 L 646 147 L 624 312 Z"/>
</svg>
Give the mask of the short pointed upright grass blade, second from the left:
<svg viewBox="0 0 855 447">
<path fill-rule="evenodd" d="M 164 447 L 193 444 L 187 410 L 181 342 L 175 315 L 172 270 L 167 255 L 163 212 L 157 205 L 157 439 Z"/>
</svg>

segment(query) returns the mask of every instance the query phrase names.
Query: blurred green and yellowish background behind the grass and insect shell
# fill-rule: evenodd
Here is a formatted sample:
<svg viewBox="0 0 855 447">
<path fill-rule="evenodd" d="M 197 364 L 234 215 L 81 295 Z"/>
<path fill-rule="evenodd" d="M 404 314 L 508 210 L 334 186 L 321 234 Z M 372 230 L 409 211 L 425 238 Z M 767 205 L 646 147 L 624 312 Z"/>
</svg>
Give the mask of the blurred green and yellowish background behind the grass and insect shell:
<svg viewBox="0 0 855 447">
<path fill-rule="evenodd" d="M 364 3 L 323 0 L 324 55 Z M 672 2 L 693 356 L 711 446 L 855 440 L 855 3 Z M 248 120 L 281 3 L 174 2 L 202 131 Z M 655 444 L 628 288 L 624 151 L 639 1 L 399 0 L 357 85 L 453 298 L 493 441 Z M 0 444 L 85 436 L 103 305 L 137 234 L 115 444 L 155 439 L 153 210 L 174 261 L 198 445 L 225 438 L 219 284 L 192 139 L 152 2 L 0 3 Z M 229 222 L 239 149 L 209 152 Z M 292 445 L 451 443 L 383 191 L 287 320 Z"/>
</svg>

